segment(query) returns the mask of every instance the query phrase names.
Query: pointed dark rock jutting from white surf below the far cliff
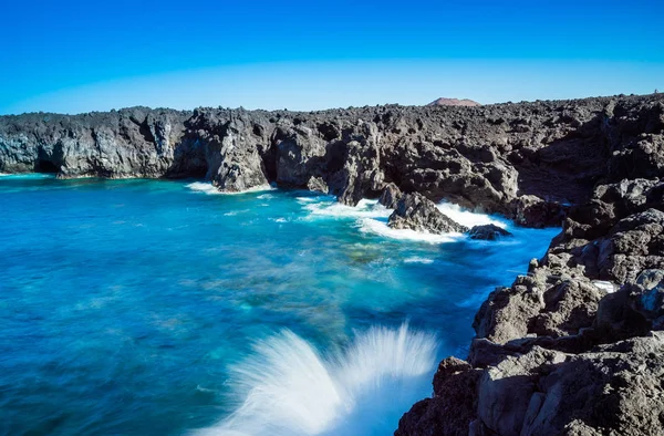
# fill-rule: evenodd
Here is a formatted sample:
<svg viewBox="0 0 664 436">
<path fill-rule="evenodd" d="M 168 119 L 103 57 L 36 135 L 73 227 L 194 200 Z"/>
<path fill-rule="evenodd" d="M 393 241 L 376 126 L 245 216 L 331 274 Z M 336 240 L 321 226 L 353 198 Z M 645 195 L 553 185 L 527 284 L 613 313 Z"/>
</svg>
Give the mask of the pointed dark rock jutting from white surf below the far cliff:
<svg viewBox="0 0 664 436">
<path fill-rule="evenodd" d="M 422 194 L 405 194 L 396 204 L 387 225 L 394 229 L 412 229 L 432 233 L 464 232 L 466 227 L 444 215 L 436 204 Z"/>
</svg>

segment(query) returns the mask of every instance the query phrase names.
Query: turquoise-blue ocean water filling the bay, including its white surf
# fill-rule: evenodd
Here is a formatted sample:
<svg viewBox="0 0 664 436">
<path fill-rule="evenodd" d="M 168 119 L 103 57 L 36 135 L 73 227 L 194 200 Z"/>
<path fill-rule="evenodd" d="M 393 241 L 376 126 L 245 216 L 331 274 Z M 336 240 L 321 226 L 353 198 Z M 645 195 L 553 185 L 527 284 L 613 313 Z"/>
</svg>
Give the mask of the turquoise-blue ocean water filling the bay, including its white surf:
<svg viewBox="0 0 664 436">
<path fill-rule="evenodd" d="M 557 232 L 430 237 L 372 201 L 211 193 L 0 177 L 0 434 L 391 434 Z"/>
</svg>

